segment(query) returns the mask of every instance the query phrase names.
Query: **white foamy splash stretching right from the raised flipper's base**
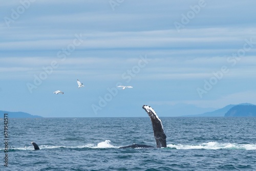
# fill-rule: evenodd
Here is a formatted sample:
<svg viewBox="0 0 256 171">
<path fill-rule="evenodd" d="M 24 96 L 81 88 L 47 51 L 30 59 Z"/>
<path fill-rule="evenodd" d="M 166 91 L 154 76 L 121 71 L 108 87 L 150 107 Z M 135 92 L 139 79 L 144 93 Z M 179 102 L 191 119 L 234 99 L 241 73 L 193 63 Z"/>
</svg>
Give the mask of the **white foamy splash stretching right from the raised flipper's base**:
<svg viewBox="0 0 256 171">
<path fill-rule="evenodd" d="M 244 149 L 256 150 L 256 144 L 208 142 L 199 145 L 168 144 L 167 147 L 176 149 Z"/>
</svg>

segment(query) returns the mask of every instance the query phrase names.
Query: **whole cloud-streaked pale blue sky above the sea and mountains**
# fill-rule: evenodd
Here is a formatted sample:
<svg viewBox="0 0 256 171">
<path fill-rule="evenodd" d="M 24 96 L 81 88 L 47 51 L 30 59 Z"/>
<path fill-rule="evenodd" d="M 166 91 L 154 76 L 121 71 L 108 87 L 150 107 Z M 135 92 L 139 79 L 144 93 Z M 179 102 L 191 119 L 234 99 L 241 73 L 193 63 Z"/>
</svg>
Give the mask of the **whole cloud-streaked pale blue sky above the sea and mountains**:
<svg viewBox="0 0 256 171">
<path fill-rule="evenodd" d="M 2 2 L 0 110 L 147 117 L 146 104 L 171 117 L 256 104 L 255 6 L 252 0 Z M 77 79 L 85 87 L 78 89 Z"/>
</svg>

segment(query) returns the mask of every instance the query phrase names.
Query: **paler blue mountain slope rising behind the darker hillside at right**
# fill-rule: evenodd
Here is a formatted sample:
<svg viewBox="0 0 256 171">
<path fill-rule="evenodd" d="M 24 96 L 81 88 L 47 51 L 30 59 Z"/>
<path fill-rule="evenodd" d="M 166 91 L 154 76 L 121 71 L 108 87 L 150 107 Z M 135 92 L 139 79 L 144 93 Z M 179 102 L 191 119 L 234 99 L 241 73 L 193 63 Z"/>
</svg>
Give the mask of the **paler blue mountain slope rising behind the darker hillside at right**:
<svg viewBox="0 0 256 171">
<path fill-rule="evenodd" d="M 250 104 L 250 103 L 241 103 L 241 104 L 229 104 L 226 105 L 224 108 L 212 111 L 212 112 L 206 112 L 203 114 L 199 114 L 199 115 L 186 115 L 185 117 L 224 117 L 225 114 L 234 106 L 237 105 L 254 105 L 254 104 Z"/>
</svg>

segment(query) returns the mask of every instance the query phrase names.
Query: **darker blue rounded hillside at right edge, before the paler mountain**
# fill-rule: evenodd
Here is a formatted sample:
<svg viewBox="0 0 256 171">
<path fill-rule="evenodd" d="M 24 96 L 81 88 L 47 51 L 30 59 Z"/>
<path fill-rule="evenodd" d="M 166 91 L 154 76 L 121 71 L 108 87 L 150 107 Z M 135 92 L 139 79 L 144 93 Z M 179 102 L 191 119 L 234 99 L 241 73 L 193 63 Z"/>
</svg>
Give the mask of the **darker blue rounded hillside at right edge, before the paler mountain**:
<svg viewBox="0 0 256 171">
<path fill-rule="evenodd" d="M 256 117 L 256 105 L 236 105 L 233 106 L 225 117 Z"/>
</svg>

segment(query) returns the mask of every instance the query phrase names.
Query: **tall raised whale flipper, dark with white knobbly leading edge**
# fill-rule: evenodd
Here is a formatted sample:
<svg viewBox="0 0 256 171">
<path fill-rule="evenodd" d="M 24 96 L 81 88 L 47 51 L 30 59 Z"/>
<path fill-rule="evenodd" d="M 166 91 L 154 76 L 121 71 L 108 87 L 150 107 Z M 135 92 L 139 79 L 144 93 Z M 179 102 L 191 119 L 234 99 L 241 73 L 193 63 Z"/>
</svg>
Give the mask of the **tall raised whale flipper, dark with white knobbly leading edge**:
<svg viewBox="0 0 256 171">
<path fill-rule="evenodd" d="M 151 119 L 157 148 L 166 147 L 166 135 L 163 132 L 162 121 L 158 118 L 156 112 L 151 108 L 151 106 L 143 105 L 142 108 Z"/>
</svg>

